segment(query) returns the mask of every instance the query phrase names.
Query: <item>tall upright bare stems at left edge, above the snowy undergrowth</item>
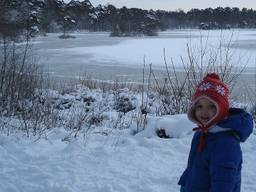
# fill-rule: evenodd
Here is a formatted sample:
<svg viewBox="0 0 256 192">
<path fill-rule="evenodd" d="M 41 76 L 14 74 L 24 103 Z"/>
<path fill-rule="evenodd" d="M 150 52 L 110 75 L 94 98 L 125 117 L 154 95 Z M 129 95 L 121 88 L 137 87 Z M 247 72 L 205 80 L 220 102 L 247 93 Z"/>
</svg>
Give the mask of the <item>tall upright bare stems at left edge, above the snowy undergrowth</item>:
<svg viewBox="0 0 256 192">
<path fill-rule="evenodd" d="M 0 46 L 0 112 L 11 115 L 16 114 L 19 101 L 42 86 L 42 70 L 29 54 L 28 42 L 20 45 L 3 39 Z"/>
</svg>

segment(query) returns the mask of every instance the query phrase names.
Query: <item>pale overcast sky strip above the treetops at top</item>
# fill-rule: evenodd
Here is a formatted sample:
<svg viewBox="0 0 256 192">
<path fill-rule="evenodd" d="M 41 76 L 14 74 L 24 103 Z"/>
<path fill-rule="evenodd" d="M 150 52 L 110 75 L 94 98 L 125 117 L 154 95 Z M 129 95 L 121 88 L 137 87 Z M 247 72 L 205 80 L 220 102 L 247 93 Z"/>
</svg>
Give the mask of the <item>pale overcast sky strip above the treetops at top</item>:
<svg viewBox="0 0 256 192">
<path fill-rule="evenodd" d="M 69 0 L 65 0 L 69 2 Z M 137 7 L 142 9 L 162 9 L 175 11 L 179 8 L 188 11 L 191 8 L 204 9 L 208 7 L 239 7 L 253 8 L 256 10 L 255 0 L 90 0 L 97 6 L 98 4 L 106 5 L 110 3 L 115 7 L 126 6 L 128 8 Z"/>
</svg>

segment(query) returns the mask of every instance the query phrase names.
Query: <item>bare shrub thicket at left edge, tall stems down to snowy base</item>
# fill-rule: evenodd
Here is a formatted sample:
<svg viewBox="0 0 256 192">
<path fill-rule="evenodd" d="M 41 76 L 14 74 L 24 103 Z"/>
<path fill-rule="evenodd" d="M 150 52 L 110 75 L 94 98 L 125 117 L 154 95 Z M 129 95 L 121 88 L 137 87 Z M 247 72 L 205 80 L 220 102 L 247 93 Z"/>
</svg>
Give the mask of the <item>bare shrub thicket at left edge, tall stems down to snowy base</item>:
<svg viewBox="0 0 256 192">
<path fill-rule="evenodd" d="M 47 95 L 40 91 L 45 82 L 43 69 L 31 50 L 29 39 L 15 42 L 0 40 L 0 115 L 19 120 L 16 126 L 3 123 L 7 133 L 23 131 L 27 136 L 41 137 L 56 126 L 57 111 L 47 104 Z"/>
</svg>

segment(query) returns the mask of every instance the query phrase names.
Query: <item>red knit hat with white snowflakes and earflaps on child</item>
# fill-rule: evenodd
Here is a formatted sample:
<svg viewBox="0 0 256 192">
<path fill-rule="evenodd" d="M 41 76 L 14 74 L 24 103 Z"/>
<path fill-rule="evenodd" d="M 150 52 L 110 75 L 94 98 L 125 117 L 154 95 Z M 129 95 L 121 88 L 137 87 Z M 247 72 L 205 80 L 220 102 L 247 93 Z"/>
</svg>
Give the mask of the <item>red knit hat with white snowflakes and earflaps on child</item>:
<svg viewBox="0 0 256 192">
<path fill-rule="evenodd" d="M 216 115 L 210 119 L 206 124 L 202 125 L 195 118 L 195 104 L 201 98 L 207 98 L 213 102 L 217 108 Z M 198 84 L 196 92 L 192 98 L 192 103 L 188 111 L 188 118 L 200 126 L 210 128 L 212 125 L 218 123 L 221 119 L 228 115 L 229 111 L 229 90 L 224 84 L 218 74 L 209 73 Z"/>
</svg>

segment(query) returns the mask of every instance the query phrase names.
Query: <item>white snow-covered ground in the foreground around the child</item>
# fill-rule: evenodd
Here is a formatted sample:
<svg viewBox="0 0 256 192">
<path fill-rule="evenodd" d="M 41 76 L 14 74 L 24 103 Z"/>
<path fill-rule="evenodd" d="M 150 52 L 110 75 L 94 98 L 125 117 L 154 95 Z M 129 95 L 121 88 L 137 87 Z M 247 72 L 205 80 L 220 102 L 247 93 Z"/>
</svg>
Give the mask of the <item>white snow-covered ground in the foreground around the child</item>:
<svg viewBox="0 0 256 192">
<path fill-rule="evenodd" d="M 90 96 L 95 99 L 90 99 L 94 112 L 98 108 L 111 108 L 113 94 L 104 93 L 103 98 L 99 93 L 85 89 L 60 97 L 53 92 L 54 102 L 51 99 L 49 102 L 56 104 L 68 119 L 67 110 L 78 109 Z M 129 92 L 125 89 L 121 95 L 129 96 Z M 130 98 L 136 100 L 134 96 Z M 110 121 L 111 115 L 115 116 L 114 110 L 105 115 Z M 145 129 L 137 134 L 134 124 L 126 129 L 107 125 L 105 122 L 76 139 L 67 137 L 69 132 L 62 127 L 47 131 L 39 140 L 1 132 L 0 192 L 179 191 L 177 182 L 186 167 L 191 130 L 195 127 L 185 114 L 160 117 L 149 114 Z M 170 138 L 159 138 L 156 134 L 159 129 L 164 129 Z M 252 134 L 242 144 L 242 192 L 256 191 L 255 148 L 256 135 Z"/>
</svg>

